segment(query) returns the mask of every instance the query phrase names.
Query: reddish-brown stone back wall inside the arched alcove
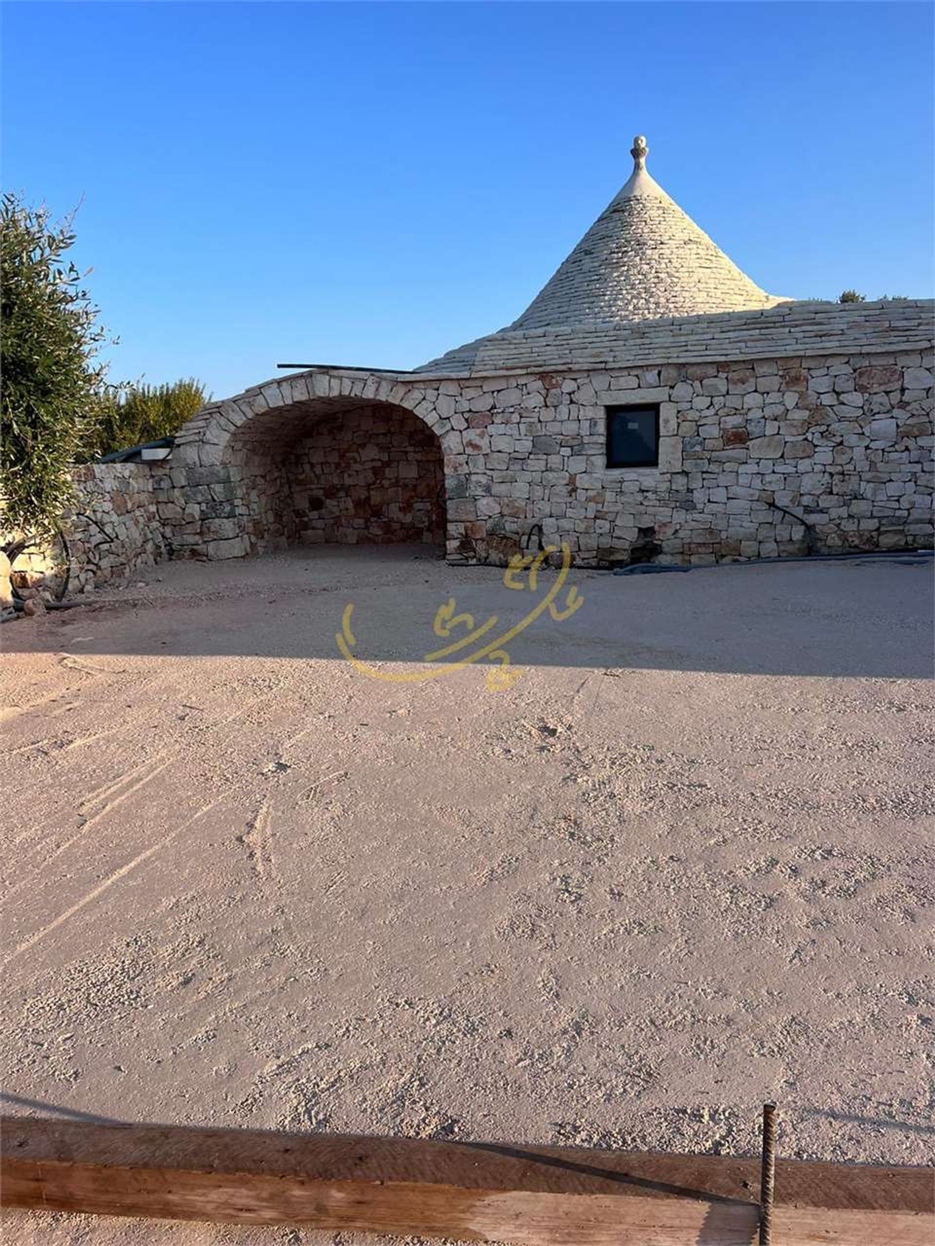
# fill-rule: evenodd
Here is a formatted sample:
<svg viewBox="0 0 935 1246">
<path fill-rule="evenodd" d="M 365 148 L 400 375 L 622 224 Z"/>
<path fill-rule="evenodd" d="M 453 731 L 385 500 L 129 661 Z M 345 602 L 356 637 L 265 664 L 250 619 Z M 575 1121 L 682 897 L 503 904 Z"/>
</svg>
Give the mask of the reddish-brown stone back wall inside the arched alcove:
<svg viewBox="0 0 935 1246">
<path fill-rule="evenodd" d="M 441 447 L 408 411 L 319 420 L 290 455 L 289 485 L 302 541 L 445 543 Z"/>
</svg>

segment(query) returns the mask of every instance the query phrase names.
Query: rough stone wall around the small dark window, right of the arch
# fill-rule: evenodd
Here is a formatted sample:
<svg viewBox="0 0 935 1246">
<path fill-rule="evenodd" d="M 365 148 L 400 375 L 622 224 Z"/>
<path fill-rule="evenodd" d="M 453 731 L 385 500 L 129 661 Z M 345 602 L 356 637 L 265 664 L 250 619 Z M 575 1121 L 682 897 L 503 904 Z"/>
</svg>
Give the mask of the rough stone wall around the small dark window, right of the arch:
<svg viewBox="0 0 935 1246">
<path fill-rule="evenodd" d="M 596 566 L 930 546 L 923 364 L 832 355 L 463 384 L 449 552 L 496 561 L 532 522 Z M 658 467 L 608 468 L 605 407 L 643 402 L 659 404 Z"/>
</svg>

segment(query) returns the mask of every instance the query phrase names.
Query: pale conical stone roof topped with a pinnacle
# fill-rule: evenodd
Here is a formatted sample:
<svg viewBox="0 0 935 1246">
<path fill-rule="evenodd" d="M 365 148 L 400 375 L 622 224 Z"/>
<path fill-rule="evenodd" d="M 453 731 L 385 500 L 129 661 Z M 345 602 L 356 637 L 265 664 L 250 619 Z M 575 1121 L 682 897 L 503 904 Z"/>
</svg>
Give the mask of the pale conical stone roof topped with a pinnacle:
<svg viewBox="0 0 935 1246">
<path fill-rule="evenodd" d="M 630 181 L 510 330 L 770 308 L 774 298 L 717 247 L 646 171 L 638 135 Z"/>
</svg>

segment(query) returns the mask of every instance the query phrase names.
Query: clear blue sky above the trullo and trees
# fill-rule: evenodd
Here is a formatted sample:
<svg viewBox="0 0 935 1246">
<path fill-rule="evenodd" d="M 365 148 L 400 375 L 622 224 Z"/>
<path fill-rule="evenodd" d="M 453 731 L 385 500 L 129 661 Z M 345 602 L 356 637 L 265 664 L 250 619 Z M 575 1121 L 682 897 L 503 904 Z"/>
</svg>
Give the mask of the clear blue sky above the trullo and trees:
<svg viewBox="0 0 935 1246">
<path fill-rule="evenodd" d="M 414 366 L 507 324 L 631 171 L 767 290 L 933 293 L 928 4 L 4 6 L 4 183 L 112 376 Z"/>
</svg>

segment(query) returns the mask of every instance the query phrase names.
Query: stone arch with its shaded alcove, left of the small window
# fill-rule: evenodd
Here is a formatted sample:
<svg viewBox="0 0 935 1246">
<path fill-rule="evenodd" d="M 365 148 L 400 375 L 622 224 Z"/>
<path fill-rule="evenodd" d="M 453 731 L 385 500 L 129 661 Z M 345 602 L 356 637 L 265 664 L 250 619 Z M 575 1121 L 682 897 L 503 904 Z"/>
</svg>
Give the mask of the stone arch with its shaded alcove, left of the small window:
<svg viewBox="0 0 935 1246">
<path fill-rule="evenodd" d="M 314 371 L 209 404 L 173 449 L 188 486 L 178 552 L 444 543 L 460 450 L 444 397 L 395 378 Z"/>
</svg>

